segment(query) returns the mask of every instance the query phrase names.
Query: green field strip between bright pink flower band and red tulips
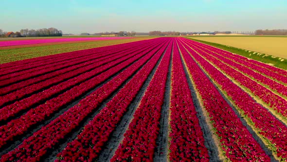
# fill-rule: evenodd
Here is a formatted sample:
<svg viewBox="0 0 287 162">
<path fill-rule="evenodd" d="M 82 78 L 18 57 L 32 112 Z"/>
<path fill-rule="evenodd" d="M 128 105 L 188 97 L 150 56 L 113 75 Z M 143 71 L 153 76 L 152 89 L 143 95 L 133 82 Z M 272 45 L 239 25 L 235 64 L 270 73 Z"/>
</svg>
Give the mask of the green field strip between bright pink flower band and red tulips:
<svg viewBox="0 0 287 162">
<path fill-rule="evenodd" d="M 88 37 L 90 38 L 90 37 Z M 104 37 L 95 37 L 104 38 Z M 66 40 L 67 38 L 65 38 Z M 75 40 L 75 38 L 72 38 Z M 82 38 L 77 38 L 82 39 Z M 110 38 L 107 38 L 110 39 Z M 102 47 L 114 44 L 121 44 L 133 41 L 142 41 L 153 38 L 142 37 L 142 38 L 130 38 L 130 39 L 115 39 L 115 40 L 82 40 L 82 41 L 59 41 L 50 43 L 39 43 L 39 44 L 23 44 L 23 45 L 13 45 L 13 46 L 3 46 L 0 47 L 0 63 L 7 63 L 11 61 L 20 61 L 25 59 L 31 59 L 41 56 L 54 55 L 64 52 L 71 52 L 77 50 L 90 49 L 95 47 Z M 53 39 L 46 39 L 53 40 Z M 59 40 L 59 39 L 58 39 Z M 23 41 L 23 40 L 17 40 Z M 28 41 L 28 40 L 24 40 Z M 32 40 L 31 40 L 32 41 Z M 33 40 L 36 41 L 36 40 Z M 33 42 L 32 41 L 32 42 Z M 2 41 L 0 41 L 2 42 Z M 11 41 L 6 41 L 11 42 Z M 12 41 L 14 42 L 14 41 Z M 14 43 L 15 44 L 15 43 Z"/>
</svg>

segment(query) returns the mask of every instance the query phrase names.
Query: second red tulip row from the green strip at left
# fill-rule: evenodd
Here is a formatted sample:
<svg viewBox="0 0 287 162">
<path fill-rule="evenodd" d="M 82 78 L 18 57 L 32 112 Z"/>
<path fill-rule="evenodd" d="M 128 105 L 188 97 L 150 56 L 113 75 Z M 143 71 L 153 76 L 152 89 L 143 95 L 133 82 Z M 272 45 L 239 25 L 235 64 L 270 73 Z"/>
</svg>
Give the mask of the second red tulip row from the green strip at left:
<svg viewBox="0 0 287 162">
<path fill-rule="evenodd" d="M 138 45 L 135 44 L 133 47 L 137 47 L 137 46 Z M 134 50 L 134 48 L 131 48 L 131 50 Z M 85 59 L 89 60 L 90 57 L 92 57 L 92 58 L 100 58 L 100 57 L 103 57 L 103 56 L 110 55 L 110 54 L 112 54 L 114 52 L 115 51 L 113 49 L 111 49 L 111 52 L 104 52 L 100 56 L 98 54 L 91 54 L 90 53 L 88 56 L 85 56 L 85 57 L 75 58 L 75 59 L 67 59 L 66 61 L 51 63 L 51 64 L 48 64 L 48 65 L 39 66 L 39 67 L 32 68 L 32 69 L 29 69 L 29 70 L 24 70 L 24 71 L 12 73 L 12 74 L 4 75 L 4 76 L 0 77 L 0 80 L 1 80 L 0 86 L 8 85 L 8 84 L 11 84 L 11 83 L 14 83 L 14 82 L 17 82 L 17 81 L 21 81 L 21 80 L 24 80 L 24 79 L 29 79 L 29 78 L 32 78 L 32 77 L 36 77 L 38 75 L 43 75 L 43 74 L 46 74 L 46 73 L 49 73 L 49 72 L 53 72 L 55 70 L 60 70 L 60 69 L 66 68 L 66 67 L 70 67 L 71 65 L 84 62 Z M 126 50 L 123 50 L 121 52 L 125 53 Z"/>
</svg>

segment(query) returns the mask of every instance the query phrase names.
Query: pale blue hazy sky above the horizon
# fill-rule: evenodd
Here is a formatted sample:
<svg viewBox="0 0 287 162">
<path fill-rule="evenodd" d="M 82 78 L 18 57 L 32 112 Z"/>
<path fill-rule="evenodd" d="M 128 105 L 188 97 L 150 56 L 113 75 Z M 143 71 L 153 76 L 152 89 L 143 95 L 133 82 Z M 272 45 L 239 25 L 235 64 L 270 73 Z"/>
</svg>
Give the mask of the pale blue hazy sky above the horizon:
<svg viewBox="0 0 287 162">
<path fill-rule="evenodd" d="M 0 29 L 105 31 L 286 29 L 287 0 L 1 0 Z"/>
</svg>

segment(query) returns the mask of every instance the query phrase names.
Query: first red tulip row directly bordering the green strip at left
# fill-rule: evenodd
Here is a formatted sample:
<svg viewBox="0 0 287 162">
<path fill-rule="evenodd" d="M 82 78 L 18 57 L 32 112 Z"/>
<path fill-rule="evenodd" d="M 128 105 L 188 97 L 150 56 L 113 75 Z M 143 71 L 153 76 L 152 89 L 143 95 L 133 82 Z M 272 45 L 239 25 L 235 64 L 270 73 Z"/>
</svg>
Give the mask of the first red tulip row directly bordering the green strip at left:
<svg viewBox="0 0 287 162">
<path fill-rule="evenodd" d="M 48 55 L 48 56 L 43 56 L 43 57 L 38 57 L 38 58 L 33 58 L 33 59 L 27 59 L 27 60 L 21 60 L 21 61 L 14 61 L 14 62 L 0 64 L 0 69 L 2 72 L 6 71 L 6 70 L 12 70 L 12 69 L 14 69 L 15 71 L 24 70 L 24 69 L 29 69 L 29 68 L 41 66 L 42 64 L 49 64 L 51 62 L 64 61 L 67 58 L 69 59 L 69 58 L 76 58 L 79 56 L 86 56 L 86 55 L 83 55 L 82 53 L 89 55 L 90 53 L 99 53 L 100 54 L 101 52 L 109 51 L 112 49 L 121 50 L 121 48 L 126 48 L 126 47 L 128 49 L 130 47 L 130 45 L 132 45 L 134 43 L 144 43 L 144 42 L 149 42 L 149 41 L 151 41 L 151 40 L 129 42 L 129 43 L 123 43 L 123 44 L 117 44 L 117 45 L 111 45 L 111 46 L 85 49 L 85 50 L 80 50 L 80 51 L 66 52 L 66 53 L 61 53 L 61 54 L 56 54 L 56 55 Z"/>
</svg>

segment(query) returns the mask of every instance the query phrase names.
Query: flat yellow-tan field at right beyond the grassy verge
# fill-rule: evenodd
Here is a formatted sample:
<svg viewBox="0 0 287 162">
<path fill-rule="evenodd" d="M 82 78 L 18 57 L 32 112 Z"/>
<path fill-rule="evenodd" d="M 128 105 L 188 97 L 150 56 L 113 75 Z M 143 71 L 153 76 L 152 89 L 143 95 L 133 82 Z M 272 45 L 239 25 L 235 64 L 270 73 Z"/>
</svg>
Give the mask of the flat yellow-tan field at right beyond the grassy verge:
<svg viewBox="0 0 287 162">
<path fill-rule="evenodd" d="M 287 59 L 287 37 L 194 37 Z"/>
</svg>

